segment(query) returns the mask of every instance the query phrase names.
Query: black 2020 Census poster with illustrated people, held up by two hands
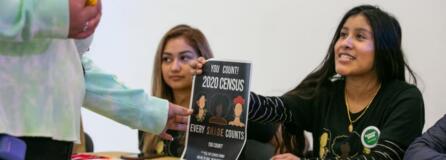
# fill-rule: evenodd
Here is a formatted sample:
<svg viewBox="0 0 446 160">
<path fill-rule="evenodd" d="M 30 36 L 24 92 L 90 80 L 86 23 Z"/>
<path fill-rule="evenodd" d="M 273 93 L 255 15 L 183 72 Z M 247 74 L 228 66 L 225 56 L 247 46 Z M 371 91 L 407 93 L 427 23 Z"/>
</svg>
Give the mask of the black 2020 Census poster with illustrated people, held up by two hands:
<svg viewBox="0 0 446 160">
<path fill-rule="evenodd" d="M 194 78 L 182 159 L 237 159 L 246 142 L 251 64 L 209 60 Z"/>
</svg>

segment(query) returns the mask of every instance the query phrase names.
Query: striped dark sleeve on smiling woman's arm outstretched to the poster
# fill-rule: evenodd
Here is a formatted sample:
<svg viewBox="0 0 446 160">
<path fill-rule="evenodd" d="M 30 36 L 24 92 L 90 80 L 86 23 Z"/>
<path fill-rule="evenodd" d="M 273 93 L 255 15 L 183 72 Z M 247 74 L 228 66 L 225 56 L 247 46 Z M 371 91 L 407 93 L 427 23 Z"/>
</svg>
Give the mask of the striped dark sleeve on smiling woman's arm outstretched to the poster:
<svg viewBox="0 0 446 160">
<path fill-rule="evenodd" d="M 249 120 L 260 123 L 285 123 L 287 126 L 302 128 L 308 122 L 310 100 L 297 96 L 265 97 L 251 92 L 249 101 Z"/>
</svg>

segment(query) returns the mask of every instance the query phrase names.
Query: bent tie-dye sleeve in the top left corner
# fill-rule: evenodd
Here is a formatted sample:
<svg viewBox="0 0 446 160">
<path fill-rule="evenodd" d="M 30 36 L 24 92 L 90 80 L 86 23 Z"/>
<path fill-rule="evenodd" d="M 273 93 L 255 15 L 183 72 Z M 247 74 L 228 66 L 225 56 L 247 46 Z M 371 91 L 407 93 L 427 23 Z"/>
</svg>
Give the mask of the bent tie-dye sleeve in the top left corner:
<svg viewBox="0 0 446 160">
<path fill-rule="evenodd" d="M 0 0 L 0 41 L 66 38 L 69 0 Z"/>
</svg>

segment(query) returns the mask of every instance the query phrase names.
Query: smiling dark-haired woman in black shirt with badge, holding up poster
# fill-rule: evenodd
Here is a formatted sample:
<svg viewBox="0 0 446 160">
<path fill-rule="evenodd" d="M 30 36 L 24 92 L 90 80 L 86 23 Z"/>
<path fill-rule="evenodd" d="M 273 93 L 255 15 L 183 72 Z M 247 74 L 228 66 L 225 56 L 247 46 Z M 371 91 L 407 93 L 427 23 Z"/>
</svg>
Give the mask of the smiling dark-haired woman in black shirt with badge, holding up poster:
<svg viewBox="0 0 446 160">
<path fill-rule="evenodd" d="M 252 93 L 249 118 L 312 132 L 309 158 L 402 159 L 421 135 L 424 102 L 404 59 L 401 37 L 398 21 L 380 8 L 352 8 L 319 67 L 283 96 Z M 197 62 L 193 66 L 200 73 L 205 60 Z M 272 159 L 299 159 L 296 155 Z"/>
</svg>

